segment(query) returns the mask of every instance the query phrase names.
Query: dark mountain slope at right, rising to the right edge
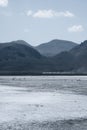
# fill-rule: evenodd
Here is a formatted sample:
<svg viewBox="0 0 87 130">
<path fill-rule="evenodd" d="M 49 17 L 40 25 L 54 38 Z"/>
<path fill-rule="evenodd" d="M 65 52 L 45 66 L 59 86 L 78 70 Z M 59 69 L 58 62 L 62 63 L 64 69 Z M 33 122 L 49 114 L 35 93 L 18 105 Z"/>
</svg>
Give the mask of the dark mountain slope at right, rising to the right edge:
<svg viewBox="0 0 87 130">
<path fill-rule="evenodd" d="M 87 41 L 52 58 L 56 71 L 87 73 Z"/>
</svg>

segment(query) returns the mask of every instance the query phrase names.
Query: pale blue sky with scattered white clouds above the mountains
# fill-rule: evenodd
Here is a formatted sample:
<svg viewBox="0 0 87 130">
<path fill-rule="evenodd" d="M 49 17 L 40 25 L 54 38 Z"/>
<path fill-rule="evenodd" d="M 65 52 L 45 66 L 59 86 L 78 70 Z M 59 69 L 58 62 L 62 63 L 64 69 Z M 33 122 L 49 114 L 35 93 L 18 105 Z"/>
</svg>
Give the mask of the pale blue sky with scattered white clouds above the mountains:
<svg viewBox="0 0 87 130">
<path fill-rule="evenodd" d="M 0 0 L 0 42 L 87 40 L 87 0 Z"/>
</svg>

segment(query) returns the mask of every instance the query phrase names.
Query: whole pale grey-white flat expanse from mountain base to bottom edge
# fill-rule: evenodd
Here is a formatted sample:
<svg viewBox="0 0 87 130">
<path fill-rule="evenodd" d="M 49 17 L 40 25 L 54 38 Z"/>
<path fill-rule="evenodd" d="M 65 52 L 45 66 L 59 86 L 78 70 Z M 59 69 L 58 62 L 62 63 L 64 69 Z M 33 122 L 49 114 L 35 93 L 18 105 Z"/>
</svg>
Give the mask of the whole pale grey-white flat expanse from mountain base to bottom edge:
<svg viewBox="0 0 87 130">
<path fill-rule="evenodd" d="M 86 76 L 0 77 L 0 130 L 86 130 L 86 119 Z"/>
</svg>

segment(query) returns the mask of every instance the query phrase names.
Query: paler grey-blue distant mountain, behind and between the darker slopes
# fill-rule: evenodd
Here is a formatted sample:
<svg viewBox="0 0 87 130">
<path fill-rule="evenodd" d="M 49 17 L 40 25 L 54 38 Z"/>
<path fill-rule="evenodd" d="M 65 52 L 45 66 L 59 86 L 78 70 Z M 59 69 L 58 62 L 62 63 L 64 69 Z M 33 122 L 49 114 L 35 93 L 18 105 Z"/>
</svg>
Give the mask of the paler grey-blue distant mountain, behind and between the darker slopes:
<svg viewBox="0 0 87 130">
<path fill-rule="evenodd" d="M 65 40 L 52 40 L 48 43 L 43 43 L 36 46 L 36 50 L 39 51 L 44 56 L 54 56 L 63 51 L 69 51 L 77 44 L 71 41 Z"/>
</svg>

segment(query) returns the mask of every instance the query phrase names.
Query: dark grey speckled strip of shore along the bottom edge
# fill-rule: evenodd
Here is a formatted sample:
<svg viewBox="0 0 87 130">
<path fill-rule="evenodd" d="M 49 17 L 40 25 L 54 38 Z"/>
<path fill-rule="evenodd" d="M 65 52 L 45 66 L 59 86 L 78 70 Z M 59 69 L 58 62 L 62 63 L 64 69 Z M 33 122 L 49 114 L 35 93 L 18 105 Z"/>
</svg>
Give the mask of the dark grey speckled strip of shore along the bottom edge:
<svg viewBox="0 0 87 130">
<path fill-rule="evenodd" d="M 0 130 L 86 130 L 87 119 L 46 121 L 46 122 L 11 122 L 0 123 Z"/>
</svg>

